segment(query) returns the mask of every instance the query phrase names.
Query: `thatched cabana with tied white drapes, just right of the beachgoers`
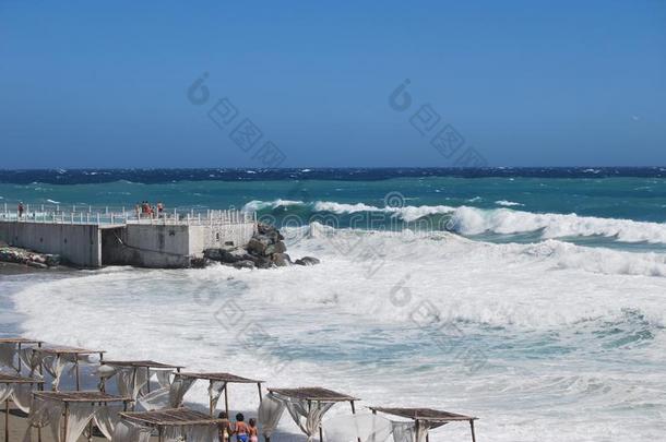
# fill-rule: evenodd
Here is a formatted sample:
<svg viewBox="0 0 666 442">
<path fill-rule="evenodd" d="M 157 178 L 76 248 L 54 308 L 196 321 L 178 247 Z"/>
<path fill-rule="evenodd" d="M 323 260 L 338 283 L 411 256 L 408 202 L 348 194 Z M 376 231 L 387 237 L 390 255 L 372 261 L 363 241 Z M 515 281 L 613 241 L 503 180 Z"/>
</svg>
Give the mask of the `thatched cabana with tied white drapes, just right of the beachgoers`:
<svg viewBox="0 0 666 442">
<path fill-rule="evenodd" d="M 318 431 L 320 441 L 323 441 L 321 421 L 326 411 L 337 403 L 348 402 L 352 405 L 352 414 L 356 414 L 354 405 L 356 401 L 359 399 L 320 386 L 269 389 L 269 394 L 259 406 L 259 423 L 269 442 L 286 409 L 298 428 L 307 435 L 308 442 Z"/>
</svg>

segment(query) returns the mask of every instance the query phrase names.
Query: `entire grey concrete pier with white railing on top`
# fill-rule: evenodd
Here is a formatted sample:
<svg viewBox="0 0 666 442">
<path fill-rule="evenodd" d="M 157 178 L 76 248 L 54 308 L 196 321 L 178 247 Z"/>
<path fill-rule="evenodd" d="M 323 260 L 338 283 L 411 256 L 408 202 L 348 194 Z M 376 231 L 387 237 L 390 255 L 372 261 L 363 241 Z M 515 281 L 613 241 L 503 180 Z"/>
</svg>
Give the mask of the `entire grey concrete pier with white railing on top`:
<svg viewBox="0 0 666 442">
<path fill-rule="evenodd" d="M 189 212 L 138 217 L 133 213 L 33 213 L 0 215 L 0 240 L 59 254 L 79 267 L 134 265 L 188 267 L 207 248 L 245 246 L 255 231 L 253 213 Z"/>
</svg>

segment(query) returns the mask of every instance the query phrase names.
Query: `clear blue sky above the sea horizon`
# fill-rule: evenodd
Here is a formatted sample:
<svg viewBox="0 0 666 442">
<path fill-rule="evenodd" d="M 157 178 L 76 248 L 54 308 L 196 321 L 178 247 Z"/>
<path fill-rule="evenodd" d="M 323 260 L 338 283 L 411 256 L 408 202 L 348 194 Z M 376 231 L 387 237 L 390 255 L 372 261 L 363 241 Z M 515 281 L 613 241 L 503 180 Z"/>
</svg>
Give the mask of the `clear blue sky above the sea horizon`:
<svg viewBox="0 0 666 442">
<path fill-rule="evenodd" d="M 64 3 L 0 0 L 0 168 L 666 165 L 664 0 Z"/>
</svg>

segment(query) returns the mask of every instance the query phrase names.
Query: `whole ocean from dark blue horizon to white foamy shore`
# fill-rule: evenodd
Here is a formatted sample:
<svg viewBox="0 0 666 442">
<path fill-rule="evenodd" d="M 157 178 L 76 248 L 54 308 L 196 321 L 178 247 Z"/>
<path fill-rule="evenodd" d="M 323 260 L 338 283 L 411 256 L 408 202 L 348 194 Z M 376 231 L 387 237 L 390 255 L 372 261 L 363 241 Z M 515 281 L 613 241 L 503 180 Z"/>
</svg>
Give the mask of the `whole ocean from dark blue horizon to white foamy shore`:
<svg viewBox="0 0 666 442">
<path fill-rule="evenodd" d="M 4 170 L 0 205 L 12 210 L 245 207 L 281 227 L 293 258 L 321 264 L 0 276 L 0 331 L 270 386 L 323 385 L 361 408 L 471 414 L 479 441 L 661 440 L 664 174 Z M 253 390 L 235 391 L 231 404 L 257 406 Z M 205 397 L 201 386 L 189 399 Z M 467 431 L 452 423 L 433 438 Z"/>
</svg>

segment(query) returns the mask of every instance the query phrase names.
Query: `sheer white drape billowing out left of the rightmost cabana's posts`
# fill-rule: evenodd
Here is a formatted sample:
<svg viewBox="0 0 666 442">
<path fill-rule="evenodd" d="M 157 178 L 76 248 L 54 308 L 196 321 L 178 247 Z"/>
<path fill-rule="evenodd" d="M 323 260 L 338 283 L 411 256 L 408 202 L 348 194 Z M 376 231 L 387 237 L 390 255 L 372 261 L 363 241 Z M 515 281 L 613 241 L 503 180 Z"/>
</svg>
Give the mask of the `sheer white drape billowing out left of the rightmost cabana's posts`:
<svg viewBox="0 0 666 442">
<path fill-rule="evenodd" d="M 384 442 L 393 431 L 389 419 L 372 414 L 336 416 L 323 428 L 326 442 Z"/>
</svg>

